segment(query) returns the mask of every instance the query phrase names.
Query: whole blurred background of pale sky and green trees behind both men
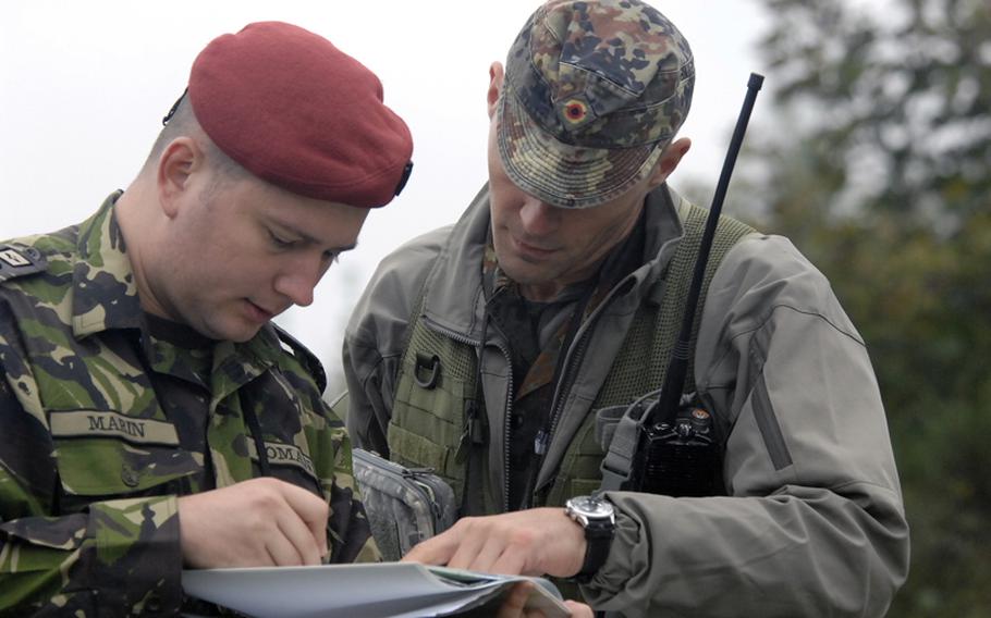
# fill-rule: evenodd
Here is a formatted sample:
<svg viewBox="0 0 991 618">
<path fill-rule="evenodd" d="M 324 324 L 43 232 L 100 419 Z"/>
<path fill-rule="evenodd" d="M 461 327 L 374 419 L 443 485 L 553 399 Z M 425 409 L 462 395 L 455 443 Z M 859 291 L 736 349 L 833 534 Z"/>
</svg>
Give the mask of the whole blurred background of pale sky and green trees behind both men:
<svg viewBox="0 0 991 618">
<path fill-rule="evenodd" d="M 790 236 L 867 341 L 912 523 L 893 617 L 991 616 L 991 3 L 654 0 L 698 83 L 672 185 L 708 205 L 750 71 L 767 76 L 725 212 Z M 488 66 L 536 0 L 13 0 L 0 7 L 0 238 L 88 217 L 139 169 L 211 38 L 258 20 L 372 69 L 416 140 L 403 195 L 309 308 L 279 322 L 341 388 L 341 333 L 379 259 L 485 182 Z M 984 359 L 984 360 L 981 360 Z"/>
</svg>

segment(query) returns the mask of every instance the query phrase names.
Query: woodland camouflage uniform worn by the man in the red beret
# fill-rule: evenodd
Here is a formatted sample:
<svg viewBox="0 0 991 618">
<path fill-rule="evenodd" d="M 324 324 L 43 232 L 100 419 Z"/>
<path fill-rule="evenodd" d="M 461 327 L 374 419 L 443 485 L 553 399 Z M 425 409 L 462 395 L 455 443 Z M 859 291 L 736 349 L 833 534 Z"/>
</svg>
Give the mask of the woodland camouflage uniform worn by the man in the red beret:
<svg viewBox="0 0 991 618">
<path fill-rule="evenodd" d="M 250 412 L 270 474 L 329 502 L 331 560 L 377 559 L 308 353 L 151 327 L 115 197 L 0 245 L 0 614 L 176 614 L 176 496 L 259 475 Z"/>
</svg>

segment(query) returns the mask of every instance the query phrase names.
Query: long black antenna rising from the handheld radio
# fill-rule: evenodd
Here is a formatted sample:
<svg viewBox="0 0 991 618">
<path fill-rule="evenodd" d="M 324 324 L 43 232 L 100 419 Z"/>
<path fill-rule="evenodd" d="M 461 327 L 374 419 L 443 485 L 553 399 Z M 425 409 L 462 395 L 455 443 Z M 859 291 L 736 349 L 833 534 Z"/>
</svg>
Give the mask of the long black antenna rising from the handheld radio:
<svg viewBox="0 0 991 618">
<path fill-rule="evenodd" d="M 688 288 L 688 298 L 685 300 L 682 330 L 671 354 L 671 362 L 669 362 L 668 372 L 664 374 L 664 385 L 661 388 L 660 400 L 654 408 L 656 412 L 651 415 L 652 418 L 645 419 L 644 427 L 651 427 L 658 417 L 673 422 L 677 415 L 682 398 L 682 385 L 685 383 L 685 373 L 688 370 L 688 356 L 693 353 L 692 324 L 695 322 L 695 311 L 698 307 L 698 296 L 702 288 L 702 277 L 706 274 L 706 263 L 709 261 L 709 250 L 712 248 L 715 225 L 719 223 L 719 215 L 723 209 L 723 199 L 726 197 L 726 188 L 730 186 L 730 177 L 733 175 L 736 156 L 743 145 L 743 137 L 747 132 L 747 123 L 750 122 L 754 101 L 757 99 L 757 92 L 760 91 L 762 84 L 763 75 L 750 73 L 750 79 L 747 82 L 747 96 L 744 99 L 743 108 L 739 110 L 739 118 L 736 119 L 736 128 L 733 129 L 733 138 L 730 140 L 730 150 L 726 152 L 726 160 L 723 162 L 723 170 L 719 175 L 719 184 L 715 186 L 715 195 L 712 196 L 712 207 L 709 209 L 709 217 L 706 219 L 706 231 L 702 233 L 698 258 L 695 260 L 695 274 L 692 277 L 692 286 Z"/>
</svg>

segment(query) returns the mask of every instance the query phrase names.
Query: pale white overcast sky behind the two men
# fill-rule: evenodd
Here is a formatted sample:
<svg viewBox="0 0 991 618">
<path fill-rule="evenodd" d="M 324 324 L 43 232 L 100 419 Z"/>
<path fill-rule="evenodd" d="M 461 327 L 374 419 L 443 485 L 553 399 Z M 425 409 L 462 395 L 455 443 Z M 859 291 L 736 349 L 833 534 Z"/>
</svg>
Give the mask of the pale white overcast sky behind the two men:
<svg viewBox="0 0 991 618">
<path fill-rule="evenodd" d="M 295 23 L 375 71 L 414 137 L 403 195 L 374 211 L 358 248 L 320 283 L 309 308 L 279 322 L 328 366 L 378 261 L 453 221 L 486 180 L 488 67 L 503 61 L 536 0 L 102 1 L 0 5 L 0 239 L 77 223 L 137 173 L 161 116 L 213 37 L 262 20 Z M 672 177 L 712 187 L 762 33 L 756 0 L 654 0 L 696 57 L 693 149 Z M 758 106 L 755 123 L 768 107 Z M 332 367 L 328 367 L 332 369 Z"/>
</svg>

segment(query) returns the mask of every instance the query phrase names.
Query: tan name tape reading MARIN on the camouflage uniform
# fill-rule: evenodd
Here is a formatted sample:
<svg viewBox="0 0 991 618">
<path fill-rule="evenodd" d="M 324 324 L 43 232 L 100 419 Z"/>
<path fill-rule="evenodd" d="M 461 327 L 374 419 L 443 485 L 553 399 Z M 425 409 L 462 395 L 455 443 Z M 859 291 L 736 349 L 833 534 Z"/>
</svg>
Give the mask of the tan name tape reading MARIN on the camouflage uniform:
<svg viewBox="0 0 991 618">
<path fill-rule="evenodd" d="M 52 437 L 120 437 L 135 444 L 179 445 L 175 427 L 166 421 L 138 419 L 101 410 L 51 412 Z"/>
</svg>

